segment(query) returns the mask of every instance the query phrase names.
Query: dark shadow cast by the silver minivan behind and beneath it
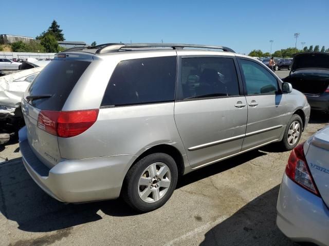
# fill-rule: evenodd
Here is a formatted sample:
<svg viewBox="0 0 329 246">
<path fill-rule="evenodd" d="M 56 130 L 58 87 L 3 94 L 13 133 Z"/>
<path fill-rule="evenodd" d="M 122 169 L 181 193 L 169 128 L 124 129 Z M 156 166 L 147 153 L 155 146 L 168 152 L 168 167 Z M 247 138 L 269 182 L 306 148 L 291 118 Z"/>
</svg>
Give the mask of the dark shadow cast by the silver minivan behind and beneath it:
<svg viewBox="0 0 329 246">
<path fill-rule="evenodd" d="M 221 165 L 212 165 L 183 176 L 177 189 L 197 180 L 221 173 L 264 155 L 259 151 L 230 158 Z M 109 216 L 137 215 L 121 199 L 84 204 L 64 204 L 48 196 L 29 176 L 21 158 L 0 164 L 0 212 L 16 221 L 18 228 L 28 232 L 51 232 L 102 219 Z M 101 215 L 99 215 L 101 214 Z"/>
</svg>

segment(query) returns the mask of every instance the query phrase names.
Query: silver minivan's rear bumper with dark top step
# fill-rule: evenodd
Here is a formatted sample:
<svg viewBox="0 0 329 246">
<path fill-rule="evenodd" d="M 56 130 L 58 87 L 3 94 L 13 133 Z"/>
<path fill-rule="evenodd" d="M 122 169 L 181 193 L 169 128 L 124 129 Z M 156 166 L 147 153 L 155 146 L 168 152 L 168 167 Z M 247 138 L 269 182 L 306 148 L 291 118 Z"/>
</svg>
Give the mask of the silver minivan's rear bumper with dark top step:
<svg viewBox="0 0 329 246">
<path fill-rule="evenodd" d="M 51 197 L 63 202 L 87 202 L 119 197 L 122 182 L 134 156 L 117 155 L 89 159 L 61 159 L 47 168 L 33 153 L 20 131 L 22 160 L 32 179 Z"/>
</svg>

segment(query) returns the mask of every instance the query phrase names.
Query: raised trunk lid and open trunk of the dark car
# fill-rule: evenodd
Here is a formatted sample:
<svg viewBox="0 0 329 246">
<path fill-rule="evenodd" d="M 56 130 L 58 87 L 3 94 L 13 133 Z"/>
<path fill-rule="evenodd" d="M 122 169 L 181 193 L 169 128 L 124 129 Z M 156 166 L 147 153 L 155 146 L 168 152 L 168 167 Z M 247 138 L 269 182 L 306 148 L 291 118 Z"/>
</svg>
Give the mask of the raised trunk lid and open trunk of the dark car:
<svg viewBox="0 0 329 246">
<path fill-rule="evenodd" d="M 319 95 L 329 86 L 329 53 L 298 53 L 284 81 L 304 94 Z"/>
</svg>

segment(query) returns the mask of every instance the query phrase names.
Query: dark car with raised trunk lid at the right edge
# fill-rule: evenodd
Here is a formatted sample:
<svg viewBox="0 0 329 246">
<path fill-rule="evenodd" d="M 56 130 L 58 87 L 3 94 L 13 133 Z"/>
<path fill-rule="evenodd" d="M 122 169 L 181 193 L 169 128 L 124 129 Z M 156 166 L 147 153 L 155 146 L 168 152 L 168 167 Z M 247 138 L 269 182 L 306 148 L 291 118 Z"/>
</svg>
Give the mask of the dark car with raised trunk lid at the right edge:
<svg viewBox="0 0 329 246">
<path fill-rule="evenodd" d="M 291 72 L 283 81 L 303 92 L 312 110 L 329 113 L 329 53 L 295 54 Z"/>
</svg>

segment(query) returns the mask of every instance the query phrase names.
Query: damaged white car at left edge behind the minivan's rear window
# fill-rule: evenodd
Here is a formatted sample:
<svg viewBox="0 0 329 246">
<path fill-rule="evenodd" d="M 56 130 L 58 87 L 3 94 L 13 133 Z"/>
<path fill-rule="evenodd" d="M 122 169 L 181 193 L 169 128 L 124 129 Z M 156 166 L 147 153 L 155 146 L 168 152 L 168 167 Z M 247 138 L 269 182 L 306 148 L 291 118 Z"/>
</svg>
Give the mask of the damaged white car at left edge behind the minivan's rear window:
<svg viewBox="0 0 329 246">
<path fill-rule="evenodd" d="M 50 61 L 28 59 L 21 70 L 0 77 L 0 144 L 4 144 L 21 127 L 24 119 L 21 99 L 33 79 Z"/>
</svg>

